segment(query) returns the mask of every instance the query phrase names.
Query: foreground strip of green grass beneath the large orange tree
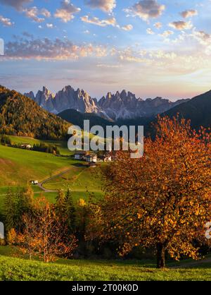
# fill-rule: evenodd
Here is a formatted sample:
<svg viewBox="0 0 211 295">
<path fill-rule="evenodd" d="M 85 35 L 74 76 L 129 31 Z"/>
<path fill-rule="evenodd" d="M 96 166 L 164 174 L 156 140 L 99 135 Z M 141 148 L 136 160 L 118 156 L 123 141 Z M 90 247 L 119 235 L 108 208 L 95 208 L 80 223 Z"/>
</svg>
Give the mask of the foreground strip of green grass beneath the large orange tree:
<svg viewBox="0 0 211 295">
<path fill-rule="evenodd" d="M 157 270 L 152 261 L 58 260 L 44 264 L 6 257 L 0 247 L 0 280 L 210 280 L 210 264 L 203 268 Z"/>
</svg>

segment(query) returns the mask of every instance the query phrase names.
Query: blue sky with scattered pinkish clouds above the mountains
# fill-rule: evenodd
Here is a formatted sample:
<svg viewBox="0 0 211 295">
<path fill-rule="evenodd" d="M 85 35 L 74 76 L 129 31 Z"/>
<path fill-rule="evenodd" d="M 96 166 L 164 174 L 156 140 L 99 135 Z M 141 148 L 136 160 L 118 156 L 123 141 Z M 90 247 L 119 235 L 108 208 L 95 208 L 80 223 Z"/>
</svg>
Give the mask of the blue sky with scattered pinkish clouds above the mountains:
<svg viewBox="0 0 211 295">
<path fill-rule="evenodd" d="M 0 84 L 191 98 L 211 89 L 210 15 L 210 0 L 0 0 Z"/>
</svg>

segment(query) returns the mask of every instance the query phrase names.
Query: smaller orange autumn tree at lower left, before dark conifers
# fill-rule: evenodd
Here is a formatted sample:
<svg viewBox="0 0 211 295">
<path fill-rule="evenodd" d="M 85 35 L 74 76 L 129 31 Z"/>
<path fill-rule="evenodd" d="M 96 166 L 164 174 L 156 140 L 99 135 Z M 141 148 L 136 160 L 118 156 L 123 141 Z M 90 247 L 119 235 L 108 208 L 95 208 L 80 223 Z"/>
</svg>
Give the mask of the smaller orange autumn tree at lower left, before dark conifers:
<svg viewBox="0 0 211 295">
<path fill-rule="evenodd" d="M 60 255 L 70 256 L 77 247 L 77 239 L 69 234 L 65 221 L 45 198 L 36 200 L 34 216 L 23 215 L 23 225 L 23 232 L 16 234 L 14 243 L 30 258 L 39 255 L 49 263 Z"/>
</svg>

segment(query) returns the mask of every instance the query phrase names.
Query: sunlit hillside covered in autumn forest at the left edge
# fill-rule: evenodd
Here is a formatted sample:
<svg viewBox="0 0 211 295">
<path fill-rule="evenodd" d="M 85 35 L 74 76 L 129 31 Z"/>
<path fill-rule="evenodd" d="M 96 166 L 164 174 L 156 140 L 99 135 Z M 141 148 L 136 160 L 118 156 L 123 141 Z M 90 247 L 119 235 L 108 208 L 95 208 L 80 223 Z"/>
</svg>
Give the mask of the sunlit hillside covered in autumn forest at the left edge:
<svg viewBox="0 0 211 295">
<path fill-rule="evenodd" d="M 70 124 L 41 109 L 30 98 L 0 85 L 0 133 L 43 139 L 61 139 Z"/>
</svg>

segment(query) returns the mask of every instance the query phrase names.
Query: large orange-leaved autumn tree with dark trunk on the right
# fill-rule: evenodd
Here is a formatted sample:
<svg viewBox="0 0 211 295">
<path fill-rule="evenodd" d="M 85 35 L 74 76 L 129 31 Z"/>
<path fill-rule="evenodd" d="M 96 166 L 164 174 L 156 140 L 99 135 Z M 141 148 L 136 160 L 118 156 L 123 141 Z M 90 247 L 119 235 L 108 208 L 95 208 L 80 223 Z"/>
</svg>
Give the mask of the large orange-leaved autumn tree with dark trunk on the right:
<svg viewBox="0 0 211 295">
<path fill-rule="evenodd" d="M 176 260 L 181 255 L 197 259 L 194 241 L 208 242 L 211 135 L 203 128 L 196 133 L 178 117 L 158 117 L 155 130 L 141 159 L 119 152 L 103 170 L 106 198 L 95 206 L 92 222 L 101 228 L 97 236 L 120 244 L 120 255 L 140 245 L 155 248 L 162 268 L 166 253 Z"/>
</svg>

